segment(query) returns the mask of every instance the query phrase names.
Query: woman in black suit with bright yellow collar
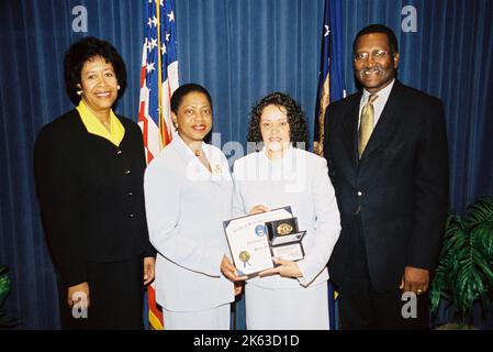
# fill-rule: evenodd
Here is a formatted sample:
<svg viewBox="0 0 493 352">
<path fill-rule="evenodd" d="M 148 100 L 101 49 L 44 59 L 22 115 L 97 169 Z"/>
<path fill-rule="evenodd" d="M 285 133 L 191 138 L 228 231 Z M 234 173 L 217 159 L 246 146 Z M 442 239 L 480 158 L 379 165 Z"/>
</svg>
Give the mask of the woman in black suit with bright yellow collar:
<svg viewBox="0 0 493 352">
<path fill-rule="evenodd" d="M 145 220 L 142 133 L 112 110 L 125 91 L 125 64 L 110 43 L 87 37 L 66 53 L 65 80 L 77 108 L 45 125 L 34 146 L 61 327 L 142 329 L 155 252 Z"/>
</svg>

